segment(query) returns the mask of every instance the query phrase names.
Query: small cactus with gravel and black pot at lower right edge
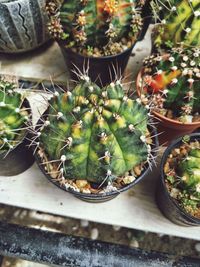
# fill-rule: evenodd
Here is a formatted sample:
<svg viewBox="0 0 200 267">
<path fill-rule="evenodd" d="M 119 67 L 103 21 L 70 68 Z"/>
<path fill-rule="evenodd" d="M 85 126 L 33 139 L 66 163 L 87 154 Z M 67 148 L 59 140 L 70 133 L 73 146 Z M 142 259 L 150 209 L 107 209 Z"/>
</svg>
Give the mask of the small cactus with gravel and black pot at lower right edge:
<svg viewBox="0 0 200 267">
<path fill-rule="evenodd" d="M 174 223 L 200 226 L 200 133 L 181 137 L 166 149 L 157 203 Z"/>
</svg>

